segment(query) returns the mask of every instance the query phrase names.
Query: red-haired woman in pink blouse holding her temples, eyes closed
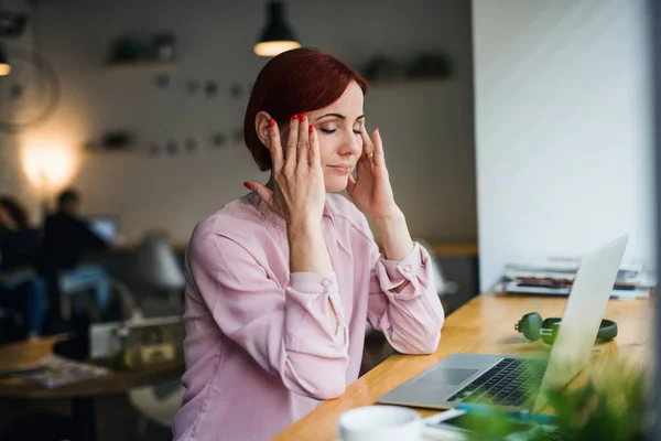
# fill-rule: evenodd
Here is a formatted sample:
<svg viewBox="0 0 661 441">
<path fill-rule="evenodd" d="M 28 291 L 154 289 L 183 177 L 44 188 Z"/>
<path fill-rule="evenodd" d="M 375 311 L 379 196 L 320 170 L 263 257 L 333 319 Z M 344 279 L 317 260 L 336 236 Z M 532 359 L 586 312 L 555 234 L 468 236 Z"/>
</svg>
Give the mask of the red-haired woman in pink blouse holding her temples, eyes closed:
<svg viewBox="0 0 661 441">
<path fill-rule="evenodd" d="M 243 136 L 271 179 L 247 182 L 191 238 L 175 440 L 268 439 L 338 397 L 358 377 L 368 321 L 402 353 L 436 349 L 430 257 L 394 202 L 378 130 L 367 135 L 366 90 L 308 49 L 258 76 Z M 329 194 L 345 189 L 350 202 Z"/>
</svg>

